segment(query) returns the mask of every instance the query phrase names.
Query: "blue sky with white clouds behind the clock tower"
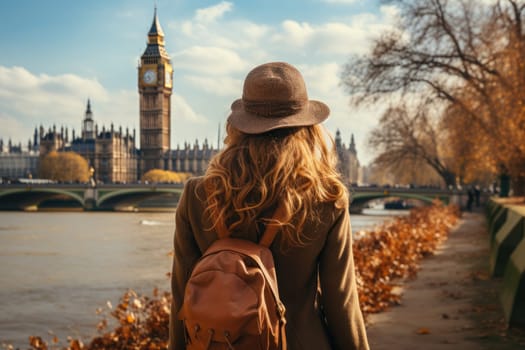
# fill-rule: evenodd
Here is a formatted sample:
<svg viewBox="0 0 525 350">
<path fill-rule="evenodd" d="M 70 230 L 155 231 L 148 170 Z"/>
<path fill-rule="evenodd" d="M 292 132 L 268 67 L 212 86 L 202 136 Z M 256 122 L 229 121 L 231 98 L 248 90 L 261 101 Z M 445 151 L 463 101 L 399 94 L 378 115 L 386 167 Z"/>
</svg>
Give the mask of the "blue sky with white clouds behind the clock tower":
<svg viewBox="0 0 525 350">
<path fill-rule="evenodd" d="M 342 65 L 366 52 L 395 8 L 378 0 L 17 0 L 0 2 L 0 138 L 22 142 L 35 126 L 80 132 L 91 99 L 99 128 L 137 130 L 137 63 L 157 5 L 174 67 L 172 148 L 217 144 L 248 71 L 287 61 L 310 98 L 326 102 L 327 129 L 353 133 L 362 163 L 378 108 L 355 109 L 340 86 Z"/>
</svg>

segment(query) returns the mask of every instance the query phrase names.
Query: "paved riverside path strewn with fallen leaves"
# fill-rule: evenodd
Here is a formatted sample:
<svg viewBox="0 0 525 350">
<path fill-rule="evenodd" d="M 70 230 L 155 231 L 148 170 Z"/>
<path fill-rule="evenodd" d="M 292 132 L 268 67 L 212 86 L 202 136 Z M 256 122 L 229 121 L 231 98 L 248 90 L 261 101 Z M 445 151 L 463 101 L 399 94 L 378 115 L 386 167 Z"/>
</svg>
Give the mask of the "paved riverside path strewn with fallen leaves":
<svg viewBox="0 0 525 350">
<path fill-rule="evenodd" d="M 525 331 L 504 324 L 488 252 L 483 214 L 464 213 L 417 277 L 401 285 L 401 305 L 369 315 L 371 349 L 525 349 Z"/>
</svg>

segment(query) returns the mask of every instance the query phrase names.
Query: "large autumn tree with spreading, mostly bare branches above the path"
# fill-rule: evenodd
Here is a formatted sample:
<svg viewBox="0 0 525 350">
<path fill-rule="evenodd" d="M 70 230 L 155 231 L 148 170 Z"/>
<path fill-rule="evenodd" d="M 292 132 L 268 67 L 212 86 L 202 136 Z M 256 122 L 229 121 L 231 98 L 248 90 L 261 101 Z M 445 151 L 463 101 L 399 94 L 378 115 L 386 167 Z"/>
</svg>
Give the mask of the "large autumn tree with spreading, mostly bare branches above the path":
<svg viewBox="0 0 525 350">
<path fill-rule="evenodd" d="M 468 140 L 463 147 L 486 148 L 483 157 L 474 151 L 462 152 L 463 158 L 475 155 L 469 164 L 510 176 L 514 193 L 525 194 L 524 1 L 388 2 L 400 10 L 396 28 L 345 66 L 342 78 L 352 102 L 430 92 L 465 118 L 442 123 L 447 134 Z"/>
</svg>

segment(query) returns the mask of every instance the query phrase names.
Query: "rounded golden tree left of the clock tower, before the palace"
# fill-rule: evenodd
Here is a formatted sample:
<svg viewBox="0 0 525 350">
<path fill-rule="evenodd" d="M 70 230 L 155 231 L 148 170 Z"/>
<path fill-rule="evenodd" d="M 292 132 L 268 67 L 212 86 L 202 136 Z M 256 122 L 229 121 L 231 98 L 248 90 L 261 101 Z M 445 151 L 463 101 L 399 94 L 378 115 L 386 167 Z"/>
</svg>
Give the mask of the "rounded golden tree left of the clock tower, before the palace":
<svg viewBox="0 0 525 350">
<path fill-rule="evenodd" d="M 75 152 L 50 152 L 40 159 L 39 176 L 59 182 L 87 182 L 87 160 Z"/>
</svg>

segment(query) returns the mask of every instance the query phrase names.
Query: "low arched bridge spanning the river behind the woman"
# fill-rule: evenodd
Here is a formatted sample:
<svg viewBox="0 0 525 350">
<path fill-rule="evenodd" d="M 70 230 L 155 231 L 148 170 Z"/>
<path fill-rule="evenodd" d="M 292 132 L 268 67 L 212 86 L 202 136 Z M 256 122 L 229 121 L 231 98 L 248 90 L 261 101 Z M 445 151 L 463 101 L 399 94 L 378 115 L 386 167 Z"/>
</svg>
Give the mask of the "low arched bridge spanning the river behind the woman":
<svg viewBox="0 0 525 350">
<path fill-rule="evenodd" d="M 0 210 L 39 210 L 50 203 L 84 210 L 135 210 L 145 202 L 159 206 L 174 206 L 182 193 L 183 184 L 2 184 Z M 359 212 L 368 203 L 385 198 L 417 200 L 431 203 L 439 199 L 444 203 L 464 204 L 466 193 L 458 190 L 435 188 L 383 188 L 352 187 L 352 212 Z"/>
</svg>

